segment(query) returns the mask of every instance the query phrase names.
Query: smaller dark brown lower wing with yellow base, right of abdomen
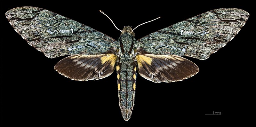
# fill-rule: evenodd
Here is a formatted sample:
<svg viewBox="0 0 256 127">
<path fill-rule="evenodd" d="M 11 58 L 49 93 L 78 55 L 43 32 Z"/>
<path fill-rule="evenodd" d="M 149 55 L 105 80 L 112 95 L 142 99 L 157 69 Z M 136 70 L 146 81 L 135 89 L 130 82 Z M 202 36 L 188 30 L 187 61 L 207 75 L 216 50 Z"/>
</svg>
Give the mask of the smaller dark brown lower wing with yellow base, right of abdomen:
<svg viewBox="0 0 256 127">
<path fill-rule="evenodd" d="M 188 59 L 177 55 L 137 55 L 139 74 L 155 83 L 177 82 L 199 72 L 199 68 Z"/>
</svg>

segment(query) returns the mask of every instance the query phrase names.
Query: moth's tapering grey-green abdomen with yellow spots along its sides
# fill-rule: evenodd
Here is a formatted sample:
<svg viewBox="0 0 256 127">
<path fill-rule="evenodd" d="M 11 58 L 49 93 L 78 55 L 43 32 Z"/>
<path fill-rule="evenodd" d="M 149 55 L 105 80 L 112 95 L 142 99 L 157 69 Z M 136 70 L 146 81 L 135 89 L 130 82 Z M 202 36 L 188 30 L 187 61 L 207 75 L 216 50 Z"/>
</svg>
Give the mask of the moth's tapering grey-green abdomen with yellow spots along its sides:
<svg viewBox="0 0 256 127">
<path fill-rule="evenodd" d="M 116 65 L 119 106 L 124 120 L 132 114 L 135 96 L 136 66 L 135 63 Z"/>
</svg>

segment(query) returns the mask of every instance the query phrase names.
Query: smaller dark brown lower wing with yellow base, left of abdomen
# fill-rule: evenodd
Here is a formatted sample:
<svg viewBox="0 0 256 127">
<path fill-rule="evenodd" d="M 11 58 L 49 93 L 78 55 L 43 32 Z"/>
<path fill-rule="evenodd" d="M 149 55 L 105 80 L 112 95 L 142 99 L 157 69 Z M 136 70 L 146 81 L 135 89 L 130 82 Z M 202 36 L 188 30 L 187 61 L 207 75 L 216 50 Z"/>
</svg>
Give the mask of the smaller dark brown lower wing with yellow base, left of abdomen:
<svg viewBox="0 0 256 127">
<path fill-rule="evenodd" d="M 54 69 L 72 80 L 98 80 L 112 74 L 116 55 L 71 55 L 60 60 Z"/>
</svg>

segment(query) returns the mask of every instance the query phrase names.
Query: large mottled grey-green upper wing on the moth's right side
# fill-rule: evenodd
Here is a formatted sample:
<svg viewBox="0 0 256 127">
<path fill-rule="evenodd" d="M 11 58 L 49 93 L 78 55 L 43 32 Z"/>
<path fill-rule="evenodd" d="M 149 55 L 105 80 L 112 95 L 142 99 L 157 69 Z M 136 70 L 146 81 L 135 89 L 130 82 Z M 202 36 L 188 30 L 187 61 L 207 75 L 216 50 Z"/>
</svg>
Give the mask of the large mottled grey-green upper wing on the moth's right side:
<svg viewBox="0 0 256 127">
<path fill-rule="evenodd" d="M 216 9 L 149 34 L 134 45 L 140 54 L 204 60 L 232 40 L 248 17 L 249 13 L 241 9 Z"/>
</svg>

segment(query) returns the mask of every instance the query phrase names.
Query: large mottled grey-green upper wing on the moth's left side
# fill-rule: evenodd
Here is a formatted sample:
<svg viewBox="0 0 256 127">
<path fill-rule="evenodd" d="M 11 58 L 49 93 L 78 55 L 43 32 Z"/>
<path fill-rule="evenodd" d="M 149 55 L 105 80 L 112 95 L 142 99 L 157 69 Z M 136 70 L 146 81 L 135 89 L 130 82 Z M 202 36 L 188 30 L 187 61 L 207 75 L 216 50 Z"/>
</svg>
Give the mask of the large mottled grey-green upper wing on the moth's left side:
<svg viewBox="0 0 256 127">
<path fill-rule="evenodd" d="M 93 28 L 42 8 L 18 7 L 5 15 L 28 44 L 49 58 L 113 53 L 118 45 Z"/>
</svg>

